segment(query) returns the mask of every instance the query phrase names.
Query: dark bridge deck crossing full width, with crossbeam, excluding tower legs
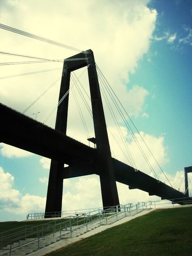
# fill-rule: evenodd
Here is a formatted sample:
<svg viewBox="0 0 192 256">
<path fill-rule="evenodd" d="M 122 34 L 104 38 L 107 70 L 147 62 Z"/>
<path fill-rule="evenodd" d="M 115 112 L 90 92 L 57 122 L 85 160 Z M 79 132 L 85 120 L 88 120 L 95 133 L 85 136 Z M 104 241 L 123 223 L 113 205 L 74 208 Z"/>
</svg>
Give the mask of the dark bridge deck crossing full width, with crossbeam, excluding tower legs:
<svg viewBox="0 0 192 256">
<path fill-rule="evenodd" d="M 96 149 L 3 104 L 0 104 L 0 123 L 0 142 L 65 162 L 69 167 L 64 167 L 63 178 L 100 175 Z M 141 171 L 135 171 L 133 167 L 123 162 L 112 160 L 116 181 L 128 185 L 130 189 L 138 188 L 148 192 L 149 195 L 156 195 L 163 199 L 181 198 L 181 201 L 187 199 L 184 199 L 183 193 L 165 183 Z M 188 200 L 192 199 L 188 197 Z"/>
</svg>

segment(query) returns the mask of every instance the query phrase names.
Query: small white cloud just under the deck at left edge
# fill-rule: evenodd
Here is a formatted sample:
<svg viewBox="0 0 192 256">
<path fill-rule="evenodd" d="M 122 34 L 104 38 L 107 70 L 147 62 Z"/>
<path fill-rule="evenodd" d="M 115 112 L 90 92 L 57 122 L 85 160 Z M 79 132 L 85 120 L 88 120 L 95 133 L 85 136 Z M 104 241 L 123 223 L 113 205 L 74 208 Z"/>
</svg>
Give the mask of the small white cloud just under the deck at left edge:
<svg viewBox="0 0 192 256">
<path fill-rule="evenodd" d="M 0 153 L 2 156 L 6 156 L 7 158 L 22 158 L 33 155 L 33 153 L 16 148 L 14 146 L 10 146 L 4 143 L 0 143 Z"/>
</svg>

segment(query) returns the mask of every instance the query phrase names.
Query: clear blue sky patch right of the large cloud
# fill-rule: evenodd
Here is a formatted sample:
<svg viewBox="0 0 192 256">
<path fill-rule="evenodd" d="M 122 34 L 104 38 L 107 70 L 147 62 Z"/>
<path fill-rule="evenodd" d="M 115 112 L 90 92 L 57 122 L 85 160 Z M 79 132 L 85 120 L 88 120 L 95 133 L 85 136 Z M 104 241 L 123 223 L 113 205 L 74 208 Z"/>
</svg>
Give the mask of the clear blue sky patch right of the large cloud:
<svg viewBox="0 0 192 256">
<path fill-rule="evenodd" d="M 165 170 L 174 174 L 183 166 L 192 164 L 192 38 L 188 43 L 179 43 L 179 40 L 190 34 L 192 2 L 152 1 L 149 6 L 154 6 L 159 14 L 154 35 L 161 38 L 169 32 L 169 35 L 176 34 L 176 38 L 172 43 L 167 41 L 169 36 L 154 40 L 150 52 L 140 61 L 130 80 L 133 84 L 143 83 L 146 89 L 153 88 L 151 94 L 160 96 L 148 103 L 147 111 L 153 119 L 148 118 L 144 127 L 154 135 L 166 133 L 165 146 L 168 147 L 170 161 Z M 151 61 L 147 63 L 150 55 Z"/>
</svg>

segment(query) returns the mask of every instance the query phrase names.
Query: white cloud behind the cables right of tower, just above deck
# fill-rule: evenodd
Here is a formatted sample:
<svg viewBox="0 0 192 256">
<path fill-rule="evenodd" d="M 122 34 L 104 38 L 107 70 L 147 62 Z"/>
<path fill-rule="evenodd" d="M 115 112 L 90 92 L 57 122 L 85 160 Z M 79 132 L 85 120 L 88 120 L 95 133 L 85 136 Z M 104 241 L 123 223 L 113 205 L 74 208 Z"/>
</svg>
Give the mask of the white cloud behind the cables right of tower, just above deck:
<svg viewBox="0 0 192 256">
<path fill-rule="evenodd" d="M 120 137 L 118 131 L 113 127 L 110 127 L 110 130 L 113 133 L 113 136 L 118 141 L 118 144 L 121 146 L 122 151 L 124 153 L 126 153 L 126 148 L 125 148 L 125 146 L 124 146 L 124 144 L 121 140 L 121 137 Z M 127 141 L 127 146 L 128 146 L 128 148 L 129 148 L 129 150 L 132 154 L 132 157 L 133 157 L 133 160 L 134 160 L 134 162 L 137 166 L 137 169 L 139 169 L 140 171 L 145 172 L 146 174 L 149 174 L 149 175 L 153 176 L 153 174 L 150 171 L 150 168 L 149 168 L 148 164 L 146 163 L 142 153 L 138 149 L 138 146 L 135 143 L 134 139 L 128 133 L 126 128 L 121 127 L 121 130 L 122 130 L 124 138 Z M 140 135 L 138 133 L 134 133 L 134 135 L 135 135 L 135 138 L 137 139 L 139 145 L 142 147 L 142 149 L 143 149 L 146 157 L 148 158 L 150 164 L 153 166 L 155 172 L 158 174 L 160 172 L 160 169 L 159 169 L 158 165 L 156 164 L 156 161 L 154 160 L 153 156 L 151 155 L 149 150 L 146 148 L 146 145 L 148 145 L 149 149 L 151 150 L 151 152 L 155 156 L 155 159 L 159 162 L 159 165 L 163 166 L 163 165 L 166 164 L 166 162 L 169 161 L 169 159 L 167 157 L 167 153 L 166 153 L 166 148 L 164 146 L 164 137 L 162 135 L 159 136 L 159 137 L 155 137 L 153 135 L 146 134 L 146 133 L 141 131 L 140 135 L 144 139 L 144 141 L 146 143 L 146 145 L 145 145 L 142 138 L 140 137 Z M 122 162 L 130 164 L 130 162 L 128 162 L 128 159 L 130 161 L 130 158 L 129 158 L 128 154 L 126 153 L 126 156 L 128 157 L 128 159 L 127 159 L 126 156 L 120 150 L 119 146 L 117 145 L 116 141 L 112 137 L 111 133 L 108 133 L 108 136 L 109 136 L 109 140 L 110 140 L 110 146 L 111 146 L 111 148 L 113 150 L 113 153 L 116 156 L 116 158 L 118 160 L 122 161 Z"/>
</svg>

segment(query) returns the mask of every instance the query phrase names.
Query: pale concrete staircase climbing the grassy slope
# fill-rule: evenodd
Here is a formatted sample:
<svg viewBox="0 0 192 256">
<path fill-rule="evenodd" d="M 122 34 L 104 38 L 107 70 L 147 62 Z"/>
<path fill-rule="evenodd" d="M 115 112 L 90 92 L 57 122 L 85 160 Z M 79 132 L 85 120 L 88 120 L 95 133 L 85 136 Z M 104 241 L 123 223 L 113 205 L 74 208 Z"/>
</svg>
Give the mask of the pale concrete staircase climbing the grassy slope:
<svg viewBox="0 0 192 256">
<path fill-rule="evenodd" d="M 10 245 L 7 245 L 6 247 L 3 247 L 4 250 L 0 251 L 0 255 L 7 255 L 7 256 L 30 255 L 32 252 L 42 249 L 60 240 L 65 240 L 67 238 L 76 238 L 93 229 L 98 228 L 99 226 L 111 225 L 112 223 L 115 223 L 118 220 L 121 220 L 127 216 L 134 216 L 135 214 L 138 214 L 143 210 L 149 210 L 149 209 L 150 208 L 134 209 L 130 212 L 128 211 L 115 212 L 115 213 L 109 214 L 108 216 L 104 215 L 103 218 L 93 220 L 90 223 L 88 222 L 83 225 L 71 226 L 70 230 L 61 229 L 60 231 L 57 231 L 50 235 L 43 236 L 40 239 L 34 240 L 34 238 L 26 238 L 25 240 L 21 240 L 20 244 L 18 244 L 18 242 L 14 242 L 12 244 L 11 248 L 15 247 L 15 249 L 14 248 L 11 249 L 11 254 L 10 254 Z"/>
</svg>

